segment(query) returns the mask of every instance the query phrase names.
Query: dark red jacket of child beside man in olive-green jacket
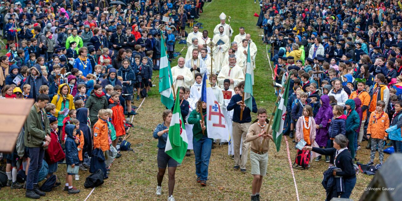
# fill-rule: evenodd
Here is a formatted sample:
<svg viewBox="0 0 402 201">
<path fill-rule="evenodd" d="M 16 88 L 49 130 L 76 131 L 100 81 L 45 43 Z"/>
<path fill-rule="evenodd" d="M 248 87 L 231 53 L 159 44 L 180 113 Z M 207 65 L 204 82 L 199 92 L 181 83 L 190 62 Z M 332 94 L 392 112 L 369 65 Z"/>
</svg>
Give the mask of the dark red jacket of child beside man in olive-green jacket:
<svg viewBox="0 0 402 201">
<path fill-rule="evenodd" d="M 50 144 L 45 150 L 47 164 L 53 164 L 66 157 L 62 150 L 62 146 L 60 146 L 59 137 L 55 131 L 52 130 L 50 132 L 50 138 Z"/>
</svg>

